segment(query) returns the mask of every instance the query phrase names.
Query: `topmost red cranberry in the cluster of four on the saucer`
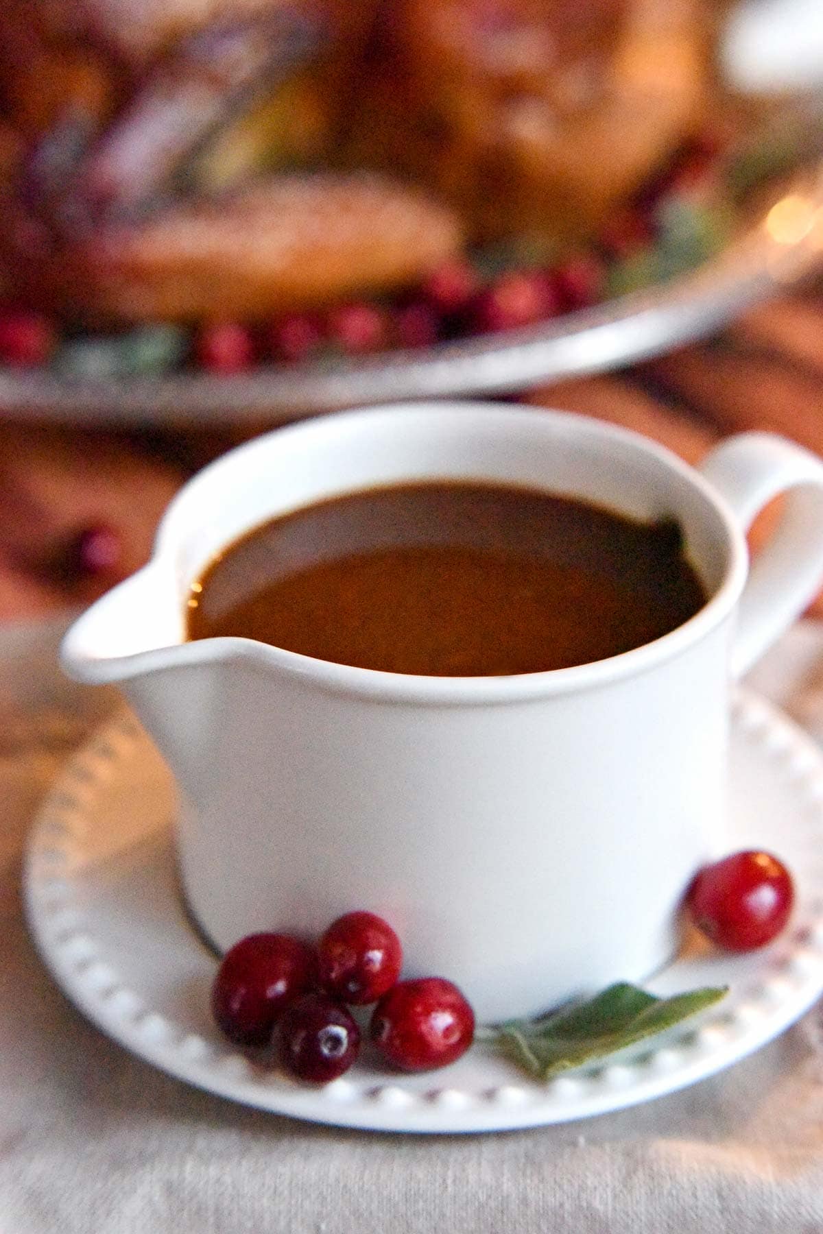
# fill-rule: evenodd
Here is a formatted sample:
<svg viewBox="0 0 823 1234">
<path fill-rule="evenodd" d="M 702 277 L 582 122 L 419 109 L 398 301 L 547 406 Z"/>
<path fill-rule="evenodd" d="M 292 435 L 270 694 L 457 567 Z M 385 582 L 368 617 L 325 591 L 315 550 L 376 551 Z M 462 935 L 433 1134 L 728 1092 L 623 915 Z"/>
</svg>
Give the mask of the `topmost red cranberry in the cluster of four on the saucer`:
<svg viewBox="0 0 823 1234">
<path fill-rule="evenodd" d="M 317 944 L 321 985 L 347 1003 L 376 1002 L 397 981 L 403 963 L 400 939 L 383 917 L 354 912 L 338 917 Z"/>
</svg>

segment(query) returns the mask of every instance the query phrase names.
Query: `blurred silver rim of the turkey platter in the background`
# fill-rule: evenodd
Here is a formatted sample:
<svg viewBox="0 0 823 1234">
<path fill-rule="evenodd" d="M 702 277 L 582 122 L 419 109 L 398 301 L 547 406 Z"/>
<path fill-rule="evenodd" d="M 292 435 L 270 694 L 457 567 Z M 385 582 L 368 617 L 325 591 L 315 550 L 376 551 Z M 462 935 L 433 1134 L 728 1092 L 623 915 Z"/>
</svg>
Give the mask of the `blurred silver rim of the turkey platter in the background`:
<svg viewBox="0 0 823 1234">
<path fill-rule="evenodd" d="M 766 193 L 728 244 L 696 269 L 540 325 L 333 364 L 262 365 L 216 376 L 84 378 L 0 370 L 15 417 L 72 423 L 278 423 L 344 406 L 511 394 L 685 344 L 790 288 L 823 262 L 823 160 Z"/>
</svg>

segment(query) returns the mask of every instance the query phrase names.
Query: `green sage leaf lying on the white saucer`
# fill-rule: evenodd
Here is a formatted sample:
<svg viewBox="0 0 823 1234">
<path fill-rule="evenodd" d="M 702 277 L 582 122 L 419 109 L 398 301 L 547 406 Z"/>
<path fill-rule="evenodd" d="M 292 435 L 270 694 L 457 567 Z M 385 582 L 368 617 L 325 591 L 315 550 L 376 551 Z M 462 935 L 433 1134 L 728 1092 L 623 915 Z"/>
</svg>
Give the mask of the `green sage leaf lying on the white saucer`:
<svg viewBox="0 0 823 1234">
<path fill-rule="evenodd" d="M 672 1028 L 726 996 L 728 987 L 707 986 L 658 998 L 619 981 L 586 1002 L 539 1019 L 510 1021 L 495 1037 L 497 1049 L 542 1080 Z"/>
</svg>

